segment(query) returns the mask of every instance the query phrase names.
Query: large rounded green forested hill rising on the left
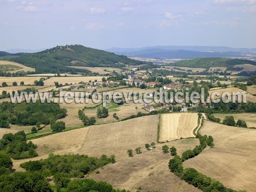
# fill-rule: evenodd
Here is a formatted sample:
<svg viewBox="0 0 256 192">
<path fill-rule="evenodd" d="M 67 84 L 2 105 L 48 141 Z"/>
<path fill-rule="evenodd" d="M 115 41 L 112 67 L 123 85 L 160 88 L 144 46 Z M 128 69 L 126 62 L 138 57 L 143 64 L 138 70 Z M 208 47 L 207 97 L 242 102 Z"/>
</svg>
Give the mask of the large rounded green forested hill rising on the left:
<svg viewBox="0 0 256 192">
<path fill-rule="evenodd" d="M 149 62 L 136 61 L 124 55 L 116 55 L 111 52 L 92 49 L 82 45 L 57 46 L 37 53 L 3 59 L 34 67 L 36 73 L 57 73 L 58 71 L 62 73 L 73 71 L 88 72 L 86 70 L 66 67 L 71 65 L 89 67 L 125 67 L 125 64 L 152 65 Z"/>
</svg>

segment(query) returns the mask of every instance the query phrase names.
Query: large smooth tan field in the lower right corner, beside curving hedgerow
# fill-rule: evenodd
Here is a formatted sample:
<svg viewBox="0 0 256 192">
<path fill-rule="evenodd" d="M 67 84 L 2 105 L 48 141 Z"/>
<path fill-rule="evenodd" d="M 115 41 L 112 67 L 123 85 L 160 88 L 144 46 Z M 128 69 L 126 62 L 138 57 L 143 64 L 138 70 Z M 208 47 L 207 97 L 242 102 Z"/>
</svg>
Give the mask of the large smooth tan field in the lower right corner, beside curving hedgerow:
<svg viewBox="0 0 256 192">
<path fill-rule="evenodd" d="M 256 130 L 204 121 L 200 133 L 212 135 L 215 148 L 205 149 L 183 166 L 195 168 L 226 187 L 255 192 Z"/>
</svg>

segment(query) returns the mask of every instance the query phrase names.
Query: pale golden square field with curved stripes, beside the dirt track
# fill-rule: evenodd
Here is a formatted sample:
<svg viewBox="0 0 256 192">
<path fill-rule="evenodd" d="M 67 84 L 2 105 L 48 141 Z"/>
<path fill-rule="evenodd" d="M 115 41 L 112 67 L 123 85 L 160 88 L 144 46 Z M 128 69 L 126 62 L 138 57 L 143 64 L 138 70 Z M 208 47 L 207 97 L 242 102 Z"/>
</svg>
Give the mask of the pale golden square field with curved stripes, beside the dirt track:
<svg viewBox="0 0 256 192">
<path fill-rule="evenodd" d="M 161 114 L 159 141 L 176 140 L 180 137 L 195 137 L 193 130 L 197 126 L 197 113 Z"/>
</svg>

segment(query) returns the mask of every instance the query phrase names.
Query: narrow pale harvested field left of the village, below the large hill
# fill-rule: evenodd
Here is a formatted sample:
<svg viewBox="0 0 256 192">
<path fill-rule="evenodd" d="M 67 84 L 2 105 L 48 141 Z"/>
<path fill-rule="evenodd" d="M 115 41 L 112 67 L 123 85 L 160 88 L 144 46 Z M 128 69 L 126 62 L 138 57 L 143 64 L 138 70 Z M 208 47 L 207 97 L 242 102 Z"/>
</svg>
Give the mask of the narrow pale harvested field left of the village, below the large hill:
<svg viewBox="0 0 256 192">
<path fill-rule="evenodd" d="M 97 80 L 97 81 L 102 81 L 102 77 L 103 76 L 77 76 L 77 77 L 52 77 L 50 79 L 47 79 L 44 81 L 44 85 L 54 85 L 54 82 L 58 82 L 58 83 L 72 83 L 72 84 L 78 84 L 79 82 L 83 81 L 83 82 L 89 82 Z M 33 78 L 33 77 L 32 77 Z M 107 77 L 105 77 L 107 78 Z"/>
</svg>

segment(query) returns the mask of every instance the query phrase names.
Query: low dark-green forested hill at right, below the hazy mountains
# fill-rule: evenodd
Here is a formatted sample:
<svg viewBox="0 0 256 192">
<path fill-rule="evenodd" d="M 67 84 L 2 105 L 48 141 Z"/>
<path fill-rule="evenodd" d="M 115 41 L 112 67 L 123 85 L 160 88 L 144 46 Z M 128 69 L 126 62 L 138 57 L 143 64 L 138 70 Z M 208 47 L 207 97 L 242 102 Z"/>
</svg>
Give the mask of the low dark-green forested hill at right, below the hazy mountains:
<svg viewBox="0 0 256 192">
<path fill-rule="evenodd" d="M 209 67 L 227 67 L 232 68 L 234 65 L 238 64 L 252 64 L 256 65 L 255 61 L 250 61 L 246 59 L 232 59 L 232 58 L 198 58 L 186 61 L 179 61 L 172 66 L 178 67 L 200 67 L 200 68 L 209 68 Z"/>
</svg>

